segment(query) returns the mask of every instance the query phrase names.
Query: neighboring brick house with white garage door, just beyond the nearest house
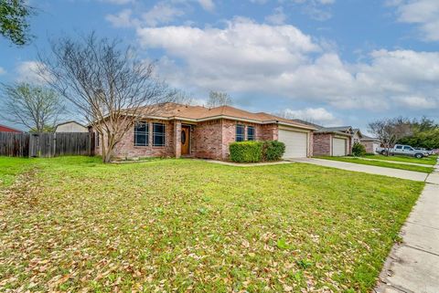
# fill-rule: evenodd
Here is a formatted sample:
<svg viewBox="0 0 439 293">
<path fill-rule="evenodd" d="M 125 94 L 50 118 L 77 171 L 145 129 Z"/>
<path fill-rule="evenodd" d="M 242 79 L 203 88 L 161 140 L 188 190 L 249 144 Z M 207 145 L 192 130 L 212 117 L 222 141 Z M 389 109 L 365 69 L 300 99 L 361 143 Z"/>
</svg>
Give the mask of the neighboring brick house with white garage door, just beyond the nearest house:
<svg viewBox="0 0 439 293">
<path fill-rule="evenodd" d="M 350 126 L 322 127 L 314 132 L 314 155 L 346 156 L 352 153 L 353 130 Z"/>
</svg>

